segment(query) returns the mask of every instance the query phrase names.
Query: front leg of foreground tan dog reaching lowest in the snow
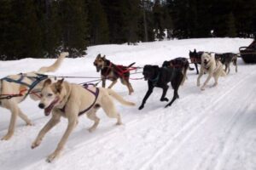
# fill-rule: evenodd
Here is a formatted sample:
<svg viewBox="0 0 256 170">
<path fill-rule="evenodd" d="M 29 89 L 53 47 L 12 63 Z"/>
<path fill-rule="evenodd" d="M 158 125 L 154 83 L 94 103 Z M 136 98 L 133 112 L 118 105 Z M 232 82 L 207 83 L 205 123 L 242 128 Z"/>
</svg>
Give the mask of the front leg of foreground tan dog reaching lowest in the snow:
<svg viewBox="0 0 256 170">
<path fill-rule="evenodd" d="M 64 135 L 62 136 L 61 141 L 59 142 L 55 151 L 47 157 L 46 161 L 48 161 L 48 162 L 53 161 L 55 159 L 55 157 L 60 155 L 61 150 L 63 150 L 64 145 L 67 143 L 67 139 L 68 139 L 70 133 L 72 133 L 73 128 L 76 127 L 78 117 L 77 116 L 75 116 L 75 117 L 69 116 L 67 118 L 68 118 L 67 129 L 66 129 Z"/>
</svg>

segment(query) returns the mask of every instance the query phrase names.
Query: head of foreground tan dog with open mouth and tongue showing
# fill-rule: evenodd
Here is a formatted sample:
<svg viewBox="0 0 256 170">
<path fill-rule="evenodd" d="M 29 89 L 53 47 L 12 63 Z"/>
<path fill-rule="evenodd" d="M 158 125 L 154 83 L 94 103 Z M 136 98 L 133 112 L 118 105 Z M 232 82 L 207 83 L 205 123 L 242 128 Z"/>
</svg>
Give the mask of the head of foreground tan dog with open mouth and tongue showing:
<svg viewBox="0 0 256 170">
<path fill-rule="evenodd" d="M 60 104 L 63 80 L 64 79 L 61 79 L 58 82 L 52 83 L 50 79 L 47 79 L 44 82 L 38 107 L 40 109 L 44 109 L 45 116 L 49 116 L 49 113 L 53 110 L 53 108 Z"/>
</svg>

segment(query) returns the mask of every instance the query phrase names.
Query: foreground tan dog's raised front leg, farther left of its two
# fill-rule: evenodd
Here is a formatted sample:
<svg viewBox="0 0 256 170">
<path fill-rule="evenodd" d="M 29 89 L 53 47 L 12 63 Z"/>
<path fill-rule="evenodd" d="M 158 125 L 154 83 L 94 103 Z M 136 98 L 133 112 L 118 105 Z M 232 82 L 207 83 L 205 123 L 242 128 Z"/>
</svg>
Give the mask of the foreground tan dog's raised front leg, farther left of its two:
<svg viewBox="0 0 256 170">
<path fill-rule="evenodd" d="M 38 137 L 32 143 L 31 148 L 34 149 L 34 148 L 38 147 L 38 145 L 41 144 L 42 139 L 44 138 L 44 135 L 46 133 L 48 133 L 52 127 L 55 127 L 55 125 L 58 124 L 58 122 L 60 122 L 60 120 L 61 120 L 60 115 L 53 114 L 52 117 L 50 118 L 49 122 L 47 122 L 46 125 L 42 128 L 42 130 L 40 130 L 40 132 L 38 133 Z"/>
</svg>

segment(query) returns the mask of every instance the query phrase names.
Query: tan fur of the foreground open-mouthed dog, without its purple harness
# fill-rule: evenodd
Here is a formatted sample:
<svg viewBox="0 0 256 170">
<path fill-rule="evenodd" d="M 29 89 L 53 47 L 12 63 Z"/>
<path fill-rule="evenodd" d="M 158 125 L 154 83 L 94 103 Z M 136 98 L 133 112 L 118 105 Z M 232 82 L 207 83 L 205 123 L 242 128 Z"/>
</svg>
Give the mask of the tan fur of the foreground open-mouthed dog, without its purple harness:
<svg viewBox="0 0 256 170">
<path fill-rule="evenodd" d="M 96 90 L 96 88 L 91 87 L 90 90 Z M 41 101 L 38 106 L 41 109 L 44 109 L 46 116 L 48 116 L 49 112 L 52 111 L 52 117 L 42 128 L 40 133 L 38 133 L 38 137 L 32 143 L 32 149 L 41 143 L 45 133 L 49 132 L 52 127 L 60 122 L 61 116 L 67 117 L 68 125 L 66 132 L 63 134 L 63 137 L 55 151 L 49 155 L 46 160 L 49 162 L 53 161 L 55 157 L 60 155 L 61 150 L 67 142 L 68 136 L 73 132 L 73 128 L 78 124 L 79 112 L 84 111 L 85 108 L 90 108 L 90 105 L 92 104 L 94 105 L 90 110 L 85 112 L 86 116 L 90 120 L 94 121 L 93 126 L 89 128 L 90 132 L 95 130 L 100 122 L 100 119 L 96 116 L 96 111 L 100 107 L 102 107 L 107 116 L 116 118 L 116 124 L 120 125 L 122 123 L 121 117 L 118 111 L 116 111 L 113 99 L 110 96 L 112 96 L 113 99 L 118 100 L 122 105 L 135 105 L 134 103 L 126 101 L 119 96 L 119 94 L 116 94 L 113 90 L 108 88 L 99 88 L 99 94 L 96 98 L 96 96 L 78 84 L 63 82 L 63 79 L 54 83 L 51 83 L 50 80 L 45 81 L 44 88 L 42 89 Z M 64 111 L 63 108 L 65 108 Z"/>
</svg>

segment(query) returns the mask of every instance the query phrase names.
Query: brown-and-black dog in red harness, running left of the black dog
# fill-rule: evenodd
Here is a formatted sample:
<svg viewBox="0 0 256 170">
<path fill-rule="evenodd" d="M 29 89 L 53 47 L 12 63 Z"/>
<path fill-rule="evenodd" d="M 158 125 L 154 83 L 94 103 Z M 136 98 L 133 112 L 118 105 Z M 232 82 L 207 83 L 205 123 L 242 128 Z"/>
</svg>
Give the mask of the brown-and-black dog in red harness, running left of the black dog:
<svg viewBox="0 0 256 170">
<path fill-rule="evenodd" d="M 126 70 L 129 69 L 135 63 L 132 63 L 128 66 L 115 65 L 110 60 L 106 59 L 105 55 L 101 56 L 101 54 L 98 54 L 93 64 L 96 66 L 97 72 L 101 71 L 102 88 L 105 88 L 106 86 L 106 79 L 112 81 L 112 83 L 108 87 L 112 88 L 113 85 L 120 78 L 122 84 L 124 84 L 128 88 L 129 94 L 131 95 L 131 93 L 134 92 L 133 88 L 131 87 L 131 83 L 129 82 L 130 71 Z M 125 72 L 120 73 L 120 71 Z"/>
</svg>

